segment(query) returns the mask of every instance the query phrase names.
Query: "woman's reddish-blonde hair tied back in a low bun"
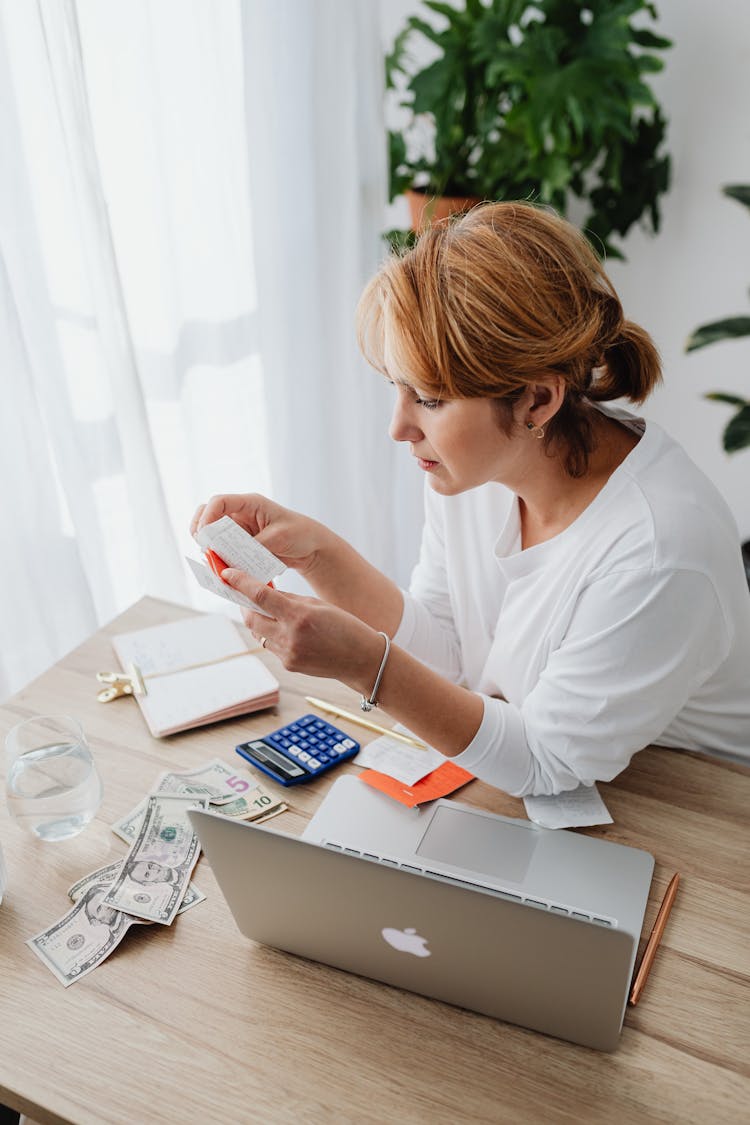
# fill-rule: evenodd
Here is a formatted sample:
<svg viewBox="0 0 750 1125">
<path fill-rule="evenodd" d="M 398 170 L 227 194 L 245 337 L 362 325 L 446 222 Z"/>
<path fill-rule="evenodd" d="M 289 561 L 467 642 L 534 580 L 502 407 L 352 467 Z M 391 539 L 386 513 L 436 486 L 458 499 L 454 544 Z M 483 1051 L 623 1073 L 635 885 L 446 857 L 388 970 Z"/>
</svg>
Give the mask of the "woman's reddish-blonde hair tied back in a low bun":
<svg viewBox="0 0 750 1125">
<path fill-rule="evenodd" d="M 436 223 L 369 282 L 356 310 L 360 348 L 388 375 L 385 340 L 422 395 L 497 399 L 506 432 L 514 402 L 544 376 L 564 402 L 544 443 L 562 443 L 582 476 L 593 449 L 589 402 L 640 403 L 661 378 L 659 354 L 626 321 L 585 236 L 548 208 L 481 204 Z"/>
</svg>

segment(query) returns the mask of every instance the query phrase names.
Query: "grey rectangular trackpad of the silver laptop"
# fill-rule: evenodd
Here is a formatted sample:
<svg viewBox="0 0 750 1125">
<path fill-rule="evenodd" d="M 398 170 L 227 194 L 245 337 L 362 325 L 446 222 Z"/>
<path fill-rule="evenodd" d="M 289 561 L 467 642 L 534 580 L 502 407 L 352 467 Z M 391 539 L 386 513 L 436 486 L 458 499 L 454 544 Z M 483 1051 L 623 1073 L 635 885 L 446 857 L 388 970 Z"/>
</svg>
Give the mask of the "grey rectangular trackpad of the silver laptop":
<svg viewBox="0 0 750 1125">
<path fill-rule="evenodd" d="M 508 825 L 495 817 L 440 804 L 416 854 L 521 883 L 536 844 L 536 832 L 522 822 Z"/>
</svg>

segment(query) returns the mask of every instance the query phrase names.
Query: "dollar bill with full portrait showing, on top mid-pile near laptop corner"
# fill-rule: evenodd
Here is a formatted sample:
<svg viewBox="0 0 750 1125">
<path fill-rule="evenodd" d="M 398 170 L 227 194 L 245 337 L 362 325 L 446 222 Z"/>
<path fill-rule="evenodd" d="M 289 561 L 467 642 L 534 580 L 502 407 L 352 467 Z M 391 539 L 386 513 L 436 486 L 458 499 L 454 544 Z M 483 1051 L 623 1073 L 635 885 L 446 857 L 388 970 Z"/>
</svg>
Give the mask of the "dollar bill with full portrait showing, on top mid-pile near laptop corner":
<svg viewBox="0 0 750 1125">
<path fill-rule="evenodd" d="M 150 796 L 138 835 L 105 896 L 105 903 L 169 926 L 200 855 L 188 809 L 207 804 L 205 798 L 169 793 Z"/>
</svg>

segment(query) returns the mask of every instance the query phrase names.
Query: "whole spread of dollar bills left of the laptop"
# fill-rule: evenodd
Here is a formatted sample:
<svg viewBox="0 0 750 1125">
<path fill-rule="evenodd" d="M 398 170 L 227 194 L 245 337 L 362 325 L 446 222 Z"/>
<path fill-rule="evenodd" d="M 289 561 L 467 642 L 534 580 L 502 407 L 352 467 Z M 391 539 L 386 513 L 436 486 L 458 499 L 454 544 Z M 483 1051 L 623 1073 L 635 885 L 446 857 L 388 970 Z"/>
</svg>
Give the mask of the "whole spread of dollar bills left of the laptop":
<svg viewBox="0 0 750 1125">
<path fill-rule="evenodd" d="M 287 808 L 218 758 L 189 773 L 161 774 L 151 793 L 112 825 L 130 845 L 125 858 L 73 883 L 73 908 L 26 943 L 62 984 L 97 969 L 130 926 L 170 926 L 205 900 L 190 882 L 200 845 L 187 810 L 209 804 L 222 816 L 256 822 Z"/>
</svg>

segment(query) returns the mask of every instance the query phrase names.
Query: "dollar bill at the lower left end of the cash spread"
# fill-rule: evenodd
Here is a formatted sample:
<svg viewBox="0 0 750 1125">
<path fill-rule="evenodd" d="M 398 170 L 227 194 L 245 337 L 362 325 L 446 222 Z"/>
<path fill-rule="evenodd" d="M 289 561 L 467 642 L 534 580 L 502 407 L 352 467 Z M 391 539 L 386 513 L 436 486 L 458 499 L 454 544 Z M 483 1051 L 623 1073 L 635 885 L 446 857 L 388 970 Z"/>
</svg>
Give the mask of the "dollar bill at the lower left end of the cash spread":
<svg viewBox="0 0 750 1125">
<path fill-rule="evenodd" d="M 109 885 L 90 882 L 67 914 L 26 943 L 65 988 L 100 965 L 130 926 L 144 925 L 105 902 Z"/>
</svg>

